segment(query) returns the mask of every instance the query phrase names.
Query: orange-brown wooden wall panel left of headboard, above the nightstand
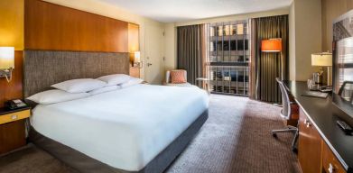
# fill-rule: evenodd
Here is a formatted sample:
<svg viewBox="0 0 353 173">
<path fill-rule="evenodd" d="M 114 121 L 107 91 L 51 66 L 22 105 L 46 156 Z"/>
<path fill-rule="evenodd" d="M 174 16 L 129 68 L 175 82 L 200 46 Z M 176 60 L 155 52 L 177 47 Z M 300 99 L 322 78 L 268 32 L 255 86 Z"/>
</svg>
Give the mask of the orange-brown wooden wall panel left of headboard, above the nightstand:
<svg viewBox="0 0 353 173">
<path fill-rule="evenodd" d="M 0 78 L 0 107 L 9 99 L 22 98 L 23 80 L 23 51 L 14 51 L 14 71 L 10 83 L 5 78 Z"/>
</svg>

